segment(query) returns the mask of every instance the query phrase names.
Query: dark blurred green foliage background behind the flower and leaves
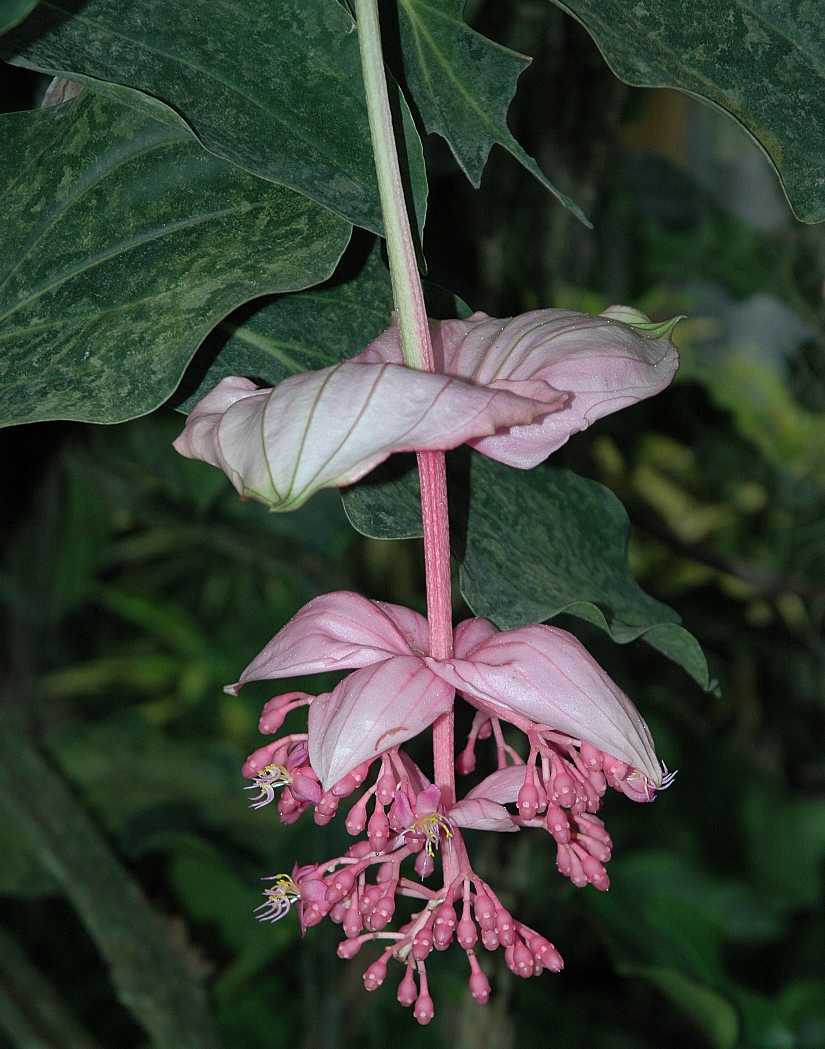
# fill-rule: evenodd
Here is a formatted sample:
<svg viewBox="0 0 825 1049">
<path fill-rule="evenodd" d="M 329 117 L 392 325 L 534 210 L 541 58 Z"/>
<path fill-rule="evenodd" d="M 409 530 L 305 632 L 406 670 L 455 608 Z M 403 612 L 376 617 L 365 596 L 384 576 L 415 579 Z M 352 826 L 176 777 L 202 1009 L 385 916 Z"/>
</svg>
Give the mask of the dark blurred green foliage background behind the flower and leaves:
<svg viewBox="0 0 825 1049">
<path fill-rule="evenodd" d="M 172 407 L 6 430 L 0 1045 L 147 1044 L 99 952 L 108 936 L 109 962 L 128 964 L 138 885 L 229 1049 L 825 1049 L 825 233 L 794 221 L 722 115 L 619 84 L 544 0 L 517 21 L 508 7 L 477 3 L 474 24 L 537 56 L 511 124 L 596 230 L 500 151 L 474 193 L 430 142 L 430 276 L 498 316 L 688 315 L 675 386 L 554 462 L 626 504 L 636 577 L 682 614 L 721 693 L 564 624 L 679 776 L 654 806 L 609 800 L 605 896 L 558 877 L 545 835 L 477 835 L 478 865 L 567 969 L 523 983 L 490 956 L 482 1008 L 460 954 L 433 958 L 438 1014 L 419 1029 L 397 980 L 366 997 L 334 928 L 301 941 L 294 916 L 252 920 L 260 877 L 332 854 L 343 832 L 247 810 L 239 766 L 270 693 L 220 690 L 320 592 L 421 607 L 419 544 L 357 536 L 335 493 L 291 515 L 241 505 L 172 452 Z M 3 77 L 5 109 L 34 104 L 36 78 Z"/>
</svg>

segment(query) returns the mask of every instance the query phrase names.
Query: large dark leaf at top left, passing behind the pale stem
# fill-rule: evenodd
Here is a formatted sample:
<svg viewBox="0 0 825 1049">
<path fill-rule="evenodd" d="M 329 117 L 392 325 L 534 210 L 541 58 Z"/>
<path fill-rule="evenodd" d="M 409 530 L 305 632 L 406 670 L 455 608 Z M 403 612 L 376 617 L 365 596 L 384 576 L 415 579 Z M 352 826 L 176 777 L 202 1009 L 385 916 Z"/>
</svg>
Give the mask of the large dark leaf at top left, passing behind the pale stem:
<svg viewBox="0 0 825 1049">
<path fill-rule="evenodd" d="M 202 144 L 380 231 L 358 38 L 331 0 L 43 0 L 0 44 L 9 61 L 136 88 L 171 106 Z M 421 143 L 398 89 L 419 226 Z"/>
</svg>

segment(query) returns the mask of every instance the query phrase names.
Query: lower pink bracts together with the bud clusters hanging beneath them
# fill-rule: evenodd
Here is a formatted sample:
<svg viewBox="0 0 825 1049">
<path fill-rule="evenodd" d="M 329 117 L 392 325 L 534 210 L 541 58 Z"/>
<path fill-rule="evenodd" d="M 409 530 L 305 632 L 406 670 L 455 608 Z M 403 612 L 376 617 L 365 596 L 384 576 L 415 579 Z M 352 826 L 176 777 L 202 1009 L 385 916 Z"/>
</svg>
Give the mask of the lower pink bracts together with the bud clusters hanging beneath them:
<svg viewBox="0 0 825 1049">
<path fill-rule="evenodd" d="M 503 947 L 507 965 L 521 977 L 563 967 L 555 947 L 513 919 L 473 873 L 460 829 L 541 829 L 552 838 L 565 877 L 605 891 L 612 842 L 596 813 L 607 788 L 647 801 L 669 783 L 640 714 L 572 635 L 553 627 L 498 630 L 471 619 L 457 628 L 449 660 L 429 657 L 427 644 L 427 621 L 418 613 L 348 592 L 326 594 L 300 609 L 227 688 L 237 693 L 250 681 L 352 670 L 332 692 L 271 699 L 262 731 L 279 731 L 289 713 L 309 706 L 308 731 L 259 748 L 244 771 L 257 791 L 253 807 L 266 807 L 277 793 L 287 823 L 310 808 L 316 822 L 326 823 L 355 797 L 346 830 L 365 837 L 342 857 L 301 868 L 289 884 L 277 876 L 265 890 L 258 917 L 277 920 L 292 905 L 302 928 L 329 917 L 342 926 L 342 958 L 367 942 L 386 941 L 364 985 L 376 989 L 388 961 L 402 962 L 399 1001 L 409 1005 L 423 996 L 415 1013 L 420 1022 L 433 1008 L 426 958 L 453 941 L 467 954 L 470 992 L 482 1003 L 490 988 L 475 954 L 479 942 L 488 950 Z M 445 806 L 440 788 L 400 745 L 449 709 L 453 689 L 477 708 L 459 769 L 475 767 L 483 738 L 493 743 L 499 769 Z M 526 761 L 506 743 L 505 723 L 524 733 Z M 459 850 L 460 874 L 442 890 L 402 875 L 409 862 L 420 879 L 429 878 L 444 849 Z M 389 932 L 399 897 L 424 906 Z"/>
</svg>

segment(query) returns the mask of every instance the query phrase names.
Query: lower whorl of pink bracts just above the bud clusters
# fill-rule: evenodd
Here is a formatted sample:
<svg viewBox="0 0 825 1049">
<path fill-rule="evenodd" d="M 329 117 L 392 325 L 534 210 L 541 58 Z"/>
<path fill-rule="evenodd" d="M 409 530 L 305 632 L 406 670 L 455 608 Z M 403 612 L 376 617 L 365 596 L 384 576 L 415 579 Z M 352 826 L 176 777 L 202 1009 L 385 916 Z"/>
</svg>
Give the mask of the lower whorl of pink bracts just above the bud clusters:
<svg viewBox="0 0 825 1049">
<path fill-rule="evenodd" d="M 290 620 L 227 691 L 255 680 L 355 670 L 311 704 L 310 762 L 324 789 L 431 725 L 451 708 L 453 689 L 505 720 L 590 743 L 661 786 L 648 726 L 573 635 L 551 626 L 499 631 L 487 620 L 468 620 L 456 631 L 454 658 L 444 661 L 427 656 L 427 639 L 426 620 L 409 608 L 326 594 Z"/>
</svg>

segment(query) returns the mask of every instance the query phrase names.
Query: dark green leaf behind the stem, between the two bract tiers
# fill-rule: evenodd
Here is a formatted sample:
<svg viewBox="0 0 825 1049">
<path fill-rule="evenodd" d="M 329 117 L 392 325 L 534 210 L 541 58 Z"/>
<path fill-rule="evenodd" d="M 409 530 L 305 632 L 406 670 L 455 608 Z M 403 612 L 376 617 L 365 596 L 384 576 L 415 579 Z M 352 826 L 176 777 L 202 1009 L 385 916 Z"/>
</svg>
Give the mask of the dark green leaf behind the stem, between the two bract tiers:
<svg viewBox="0 0 825 1049">
<path fill-rule="evenodd" d="M 627 513 L 607 488 L 550 466 L 512 470 L 470 456 L 469 491 L 451 481 L 462 535 L 460 583 L 477 616 L 502 629 L 563 613 L 626 644 L 642 638 L 713 687 L 699 643 L 668 605 L 646 594 L 628 568 Z M 379 539 L 420 536 L 418 476 L 382 471 L 344 492 L 359 532 Z M 464 509 L 466 506 L 466 510 Z M 461 531 L 459 531 L 461 530 Z"/>
</svg>

